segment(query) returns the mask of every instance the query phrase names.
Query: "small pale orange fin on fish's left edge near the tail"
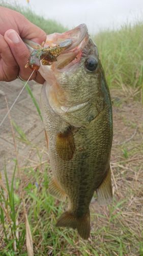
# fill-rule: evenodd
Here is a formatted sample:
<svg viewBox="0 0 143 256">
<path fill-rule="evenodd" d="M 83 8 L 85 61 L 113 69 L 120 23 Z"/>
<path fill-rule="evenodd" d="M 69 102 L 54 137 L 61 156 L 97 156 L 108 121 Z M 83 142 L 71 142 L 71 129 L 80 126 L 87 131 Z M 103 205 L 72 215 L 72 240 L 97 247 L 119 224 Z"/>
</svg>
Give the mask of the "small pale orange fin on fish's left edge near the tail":
<svg viewBox="0 0 143 256">
<path fill-rule="evenodd" d="M 65 201 L 67 197 L 65 191 L 54 178 L 49 183 L 49 193 L 60 201 Z"/>
</svg>

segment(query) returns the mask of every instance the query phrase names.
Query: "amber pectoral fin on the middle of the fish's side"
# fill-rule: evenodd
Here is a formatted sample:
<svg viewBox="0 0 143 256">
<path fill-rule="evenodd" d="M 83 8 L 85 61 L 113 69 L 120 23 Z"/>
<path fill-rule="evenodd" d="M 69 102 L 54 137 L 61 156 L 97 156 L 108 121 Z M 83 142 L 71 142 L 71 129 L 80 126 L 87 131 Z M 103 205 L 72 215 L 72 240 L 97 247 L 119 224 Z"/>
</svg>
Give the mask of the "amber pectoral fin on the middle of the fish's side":
<svg viewBox="0 0 143 256">
<path fill-rule="evenodd" d="M 71 127 L 56 137 L 56 152 L 65 161 L 72 159 L 75 151 L 74 137 Z"/>
</svg>

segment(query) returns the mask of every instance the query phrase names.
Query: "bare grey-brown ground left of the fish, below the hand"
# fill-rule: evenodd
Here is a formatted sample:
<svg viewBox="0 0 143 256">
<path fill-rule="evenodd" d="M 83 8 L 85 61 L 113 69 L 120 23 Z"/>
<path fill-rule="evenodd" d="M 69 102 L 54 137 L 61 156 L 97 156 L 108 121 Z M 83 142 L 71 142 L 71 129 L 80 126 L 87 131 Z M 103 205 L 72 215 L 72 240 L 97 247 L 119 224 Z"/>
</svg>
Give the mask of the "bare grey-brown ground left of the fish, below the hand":
<svg viewBox="0 0 143 256">
<path fill-rule="evenodd" d="M 34 97 L 37 102 L 40 101 L 40 84 L 36 84 L 31 81 L 30 87 L 33 89 Z M 21 88 L 23 87 L 23 82 L 19 79 L 13 82 L 1 82 L 0 83 L 0 116 L 1 120 L 7 113 L 7 106 L 5 101 L 5 96 L 7 97 L 9 107 L 14 102 Z M 40 103 L 39 103 L 40 104 Z M 24 132 L 26 140 L 23 141 L 19 138 L 19 134 L 16 132 L 18 154 L 20 159 L 20 165 L 24 166 L 27 163 L 36 164 L 39 162 L 38 154 L 43 157 L 42 152 L 45 150 L 45 134 L 43 123 L 37 113 L 35 105 L 28 95 L 27 91 L 24 89 L 16 104 L 11 111 L 11 118 Z M 40 157 L 39 156 L 39 157 Z M 14 145 L 12 132 L 10 128 L 10 122 L 7 117 L 3 125 L 0 127 L 0 170 L 3 173 L 4 163 L 7 163 L 7 172 L 9 177 L 13 172 L 14 166 Z"/>
</svg>

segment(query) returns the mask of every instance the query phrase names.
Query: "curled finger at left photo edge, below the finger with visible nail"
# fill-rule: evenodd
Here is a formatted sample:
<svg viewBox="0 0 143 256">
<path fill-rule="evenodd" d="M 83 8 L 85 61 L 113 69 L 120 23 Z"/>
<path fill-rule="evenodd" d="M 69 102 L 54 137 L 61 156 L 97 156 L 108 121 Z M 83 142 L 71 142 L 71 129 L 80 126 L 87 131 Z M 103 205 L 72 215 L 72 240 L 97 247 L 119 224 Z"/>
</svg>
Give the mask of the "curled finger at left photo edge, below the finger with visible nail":
<svg viewBox="0 0 143 256">
<path fill-rule="evenodd" d="M 13 57 L 13 54 L 7 44 L 4 36 L 0 34 L 0 80 L 12 81 L 16 79 L 18 74 L 18 65 Z"/>
</svg>

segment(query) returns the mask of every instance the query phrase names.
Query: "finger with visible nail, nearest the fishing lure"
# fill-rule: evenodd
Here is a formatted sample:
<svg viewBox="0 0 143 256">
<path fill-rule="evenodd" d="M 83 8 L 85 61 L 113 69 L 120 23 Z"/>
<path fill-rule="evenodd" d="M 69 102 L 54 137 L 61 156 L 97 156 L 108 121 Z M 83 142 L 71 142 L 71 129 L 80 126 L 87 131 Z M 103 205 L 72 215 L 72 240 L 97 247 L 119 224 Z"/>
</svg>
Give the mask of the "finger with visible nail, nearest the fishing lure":
<svg viewBox="0 0 143 256">
<path fill-rule="evenodd" d="M 18 64 L 18 66 L 19 66 L 19 76 L 22 79 L 27 80 L 32 73 L 32 70 L 30 68 L 25 68 L 25 65 L 30 56 L 30 52 L 28 51 L 24 42 L 22 41 L 22 39 L 20 38 L 20 36 L 18 35 L 18 33 L 15 30 L 10 29 L 10 30 L 6 31 L 4 37 L 11 49 L 11 52 Z M 34 79 L 35 77 L 36 77 L 36 72 L 34 72 L 31 79 Z"/>
</svg>

